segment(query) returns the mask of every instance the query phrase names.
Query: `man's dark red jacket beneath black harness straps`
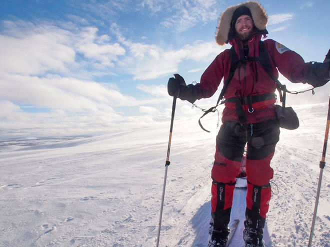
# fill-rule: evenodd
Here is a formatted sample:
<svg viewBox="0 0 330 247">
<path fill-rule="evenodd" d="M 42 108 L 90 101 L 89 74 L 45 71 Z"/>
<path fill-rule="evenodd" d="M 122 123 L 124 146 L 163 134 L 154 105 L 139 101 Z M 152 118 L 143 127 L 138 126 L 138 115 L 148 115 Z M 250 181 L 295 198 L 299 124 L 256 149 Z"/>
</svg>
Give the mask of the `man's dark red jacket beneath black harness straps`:
<svg viewBox="0 0 330 247">
<path fill-rule="evenodd" d="M 248 41 L 248 57 L 258 57 L 258 42 L 261 35 L 254 35 Z M 229 43 L 234 46 L 238 59 L 242 58 L 240 53 L 243 49 L 242 41 L 231 39 Z M 270 66 L 273 75 L 278 78 L 278 71 L 291 82 L 306 83 L 307 73 L 311 70 L 310 63 L 305 63 L 302 57 L 294 51 L 277 43 L 272 39 L 264 40 L 264 44 L 269 54 Z M 241 52 L 239 51 L 241 50 Z M 237 68 L 230 80 L 224 98 L 259 95 L 264 93 L 274 93 L 275 82 L 270 78 L 259 62 L 247 61 Z M 215 57 L 212 63 L 206 68 L 201 76 L 200 83 L 196 84 L 198 99 L 211 97 L 217 90 L 222 79 L 229 76 L 230 55 L 229 49 L 224 50 Z M 267 102 L 257 102 L 252 104 L 254 111 L 249 113 L 248 106 L 243 109 L 246 115 L 246 123 L 257 123 L 267 119 L 275 119 L 275 99 Z M 222 112 L 222 122 L 225 120 L 238 122 L 238 116 L 233 103 L 225 103 Z"/>
</svg>

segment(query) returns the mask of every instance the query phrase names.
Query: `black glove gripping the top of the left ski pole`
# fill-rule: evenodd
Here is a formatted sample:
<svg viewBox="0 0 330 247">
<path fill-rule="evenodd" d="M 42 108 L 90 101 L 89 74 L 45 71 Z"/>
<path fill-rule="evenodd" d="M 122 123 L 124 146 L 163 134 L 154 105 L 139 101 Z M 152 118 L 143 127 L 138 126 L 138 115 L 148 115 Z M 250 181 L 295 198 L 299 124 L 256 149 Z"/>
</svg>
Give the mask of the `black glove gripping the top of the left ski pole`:
<svg viewBox="0 0 330 247">
<path fill-rule="evenodd" d="M 176 96 L 181 100 L 187 100 L 190 103 L 196 101 L 198 89 L 192 84 L 186 86 L 185 81 L 179 74 L 174 74 L 175 78 L 168 79 L 167 92 L 170 96 Z"/>
</svg>

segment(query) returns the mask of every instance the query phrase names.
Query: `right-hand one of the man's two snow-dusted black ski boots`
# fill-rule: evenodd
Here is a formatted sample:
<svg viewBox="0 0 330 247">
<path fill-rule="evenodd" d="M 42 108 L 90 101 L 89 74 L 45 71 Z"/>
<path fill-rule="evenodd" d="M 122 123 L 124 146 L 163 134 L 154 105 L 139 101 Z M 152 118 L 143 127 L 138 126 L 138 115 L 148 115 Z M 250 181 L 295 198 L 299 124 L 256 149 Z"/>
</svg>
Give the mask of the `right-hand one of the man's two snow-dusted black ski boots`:
<svg viewBox="0 0 330 247">
<path fill-rule="evenodd" d="M 258 214 L 253 214 L 249 209 L 245 212 L 243 239 L 245 241 L 245 247 L 264 247 L 263 227 L 265 219 Z"/>
</svg>

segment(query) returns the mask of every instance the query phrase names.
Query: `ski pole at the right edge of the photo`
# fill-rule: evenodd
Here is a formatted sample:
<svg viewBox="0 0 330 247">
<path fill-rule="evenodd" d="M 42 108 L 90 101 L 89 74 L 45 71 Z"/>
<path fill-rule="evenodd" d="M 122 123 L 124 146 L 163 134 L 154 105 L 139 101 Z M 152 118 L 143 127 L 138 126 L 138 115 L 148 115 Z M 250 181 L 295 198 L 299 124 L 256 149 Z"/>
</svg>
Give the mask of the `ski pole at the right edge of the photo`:
<svg viewBox="0 0 330 247">
<path fill-rule="evenodd" d="M 311 247 L 311 241 L 312 241 L 313 233 L 314 233 L 316 212 L 317 212 L 317 206 L 318 206 L 318 198 L 319 198 L 319 193 L 320 193 L 320 190 L 321 190 L 323 169 L 325 167 L 325 154 L 326 154 L 327 138 L 328 138 L 328 135 L 329 135 L 329 126 L 330 126 L 330 95 L 329 95 L 329 104 L 328 104 L 328 109 L 327 109 L 327 120 L 326 120 L 323 152 L 322 152 L 321 161 L 319 162 L 320 171 L 319 171 L 318 186 L 317 186 L 317 192 L 316 192 L 316 201 L 315 201 L 315 207 L 314 207 L 313 220 L 312 220 L 312 223 L 311 223 L 308 247 Z"/>
</svg>

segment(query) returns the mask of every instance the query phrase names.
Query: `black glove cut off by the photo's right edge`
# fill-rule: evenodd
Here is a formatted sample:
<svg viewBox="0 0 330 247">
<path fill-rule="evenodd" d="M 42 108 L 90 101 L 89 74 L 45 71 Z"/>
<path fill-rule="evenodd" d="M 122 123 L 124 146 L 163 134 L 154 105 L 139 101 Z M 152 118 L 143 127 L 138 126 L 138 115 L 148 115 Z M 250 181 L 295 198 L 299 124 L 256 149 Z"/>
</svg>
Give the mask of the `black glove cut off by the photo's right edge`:
<svg viewBox="0 0 330 247">
<path fill-rule="evenodd" d="M 306 74 L 307 83 L 313 87 L 323 86 L 330 80 L 330 49 L 323 63 L 313 62 Z"/>
</svg>

